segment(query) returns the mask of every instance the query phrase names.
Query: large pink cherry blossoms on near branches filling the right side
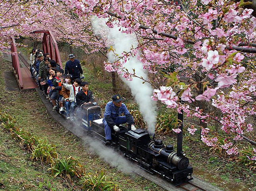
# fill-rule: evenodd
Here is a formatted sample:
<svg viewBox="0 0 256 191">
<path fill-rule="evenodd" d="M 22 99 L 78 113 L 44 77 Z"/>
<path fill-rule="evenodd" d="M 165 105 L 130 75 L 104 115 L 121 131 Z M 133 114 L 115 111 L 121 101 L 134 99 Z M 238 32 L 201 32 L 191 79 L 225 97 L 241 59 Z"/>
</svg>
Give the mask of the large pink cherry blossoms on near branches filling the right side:
<svg viewBox="0 0 256 191">
<path fill-rule="evenodd" d="M 183 109 L 187 116 L 196 116 L 204 123 L 214 120 L 221 124 L 221 130 L 226 133 L 225 145 L 219 141 L 220 134 L 203 128 L 202 141 L 208 146 L 221 146 L 228 154 L 237 154 L 235 144 L 239 141 L 256 146 L 254 134 L 250 133 L 255 115 L 256 18 L 251 16 L 253 9 L 243 8 L 248 3 L 225 0 L 63 2 L 78 15 L 108 18 L 109 27 L 117 25 L 122 32 L 137 35 L 138 47 L 119 55 L 117 62 L 106 63 L 107 71 L 125 72 L 122 63 L 136 55 L 156 77 L 152 85 L 160 86 L 154 99 L 167 107 Z M 170 66 L 175 68 L 174 72 Z M 162 72 L 169 74 L 164 81 L 160 79 Z M 123 74 L 127 80 L 132 80 L 131 76 L 136 73 Z M 247 81 L 250 86 L 246 85 Z M 214 116 L 205 108 L 190 108 L 187 103 L 195 100 L 212 103 L 221 115 Z M 188 131 L 194 134 L 196 128 Z"/>
</svg>

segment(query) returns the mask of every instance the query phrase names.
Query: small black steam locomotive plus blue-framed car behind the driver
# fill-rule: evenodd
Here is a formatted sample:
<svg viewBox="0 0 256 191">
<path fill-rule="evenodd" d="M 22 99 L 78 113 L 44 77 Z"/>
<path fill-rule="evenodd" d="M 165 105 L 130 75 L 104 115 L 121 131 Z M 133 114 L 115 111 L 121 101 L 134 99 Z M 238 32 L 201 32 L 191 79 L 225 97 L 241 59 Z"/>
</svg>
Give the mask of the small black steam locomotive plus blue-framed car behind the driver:
<svg viewBox="0 0 256 191">
<path fill-rule="evenodd" d="M 105 142 L 100 107 L 83 104 L 81 111 L 81 123 L 84 129 Z M 178 118 L 181 118 L 181 115 Z M 165 146 L 161 139 L 151 140 L 147 130 L 129 130 L 123 125 L 120 125 L 119 129 L 118 134 L 112 131 L 112 146 L 119 147 L 125 157 L 136 161 L 141 168 L 166 178 L 174 185 L 193 179 L 193 168 L 189 166 L 189 159 L 182 152 L 181 133 L 178 135 L 177 152 L 175 152 L 173 145 Z"/>
</svg>

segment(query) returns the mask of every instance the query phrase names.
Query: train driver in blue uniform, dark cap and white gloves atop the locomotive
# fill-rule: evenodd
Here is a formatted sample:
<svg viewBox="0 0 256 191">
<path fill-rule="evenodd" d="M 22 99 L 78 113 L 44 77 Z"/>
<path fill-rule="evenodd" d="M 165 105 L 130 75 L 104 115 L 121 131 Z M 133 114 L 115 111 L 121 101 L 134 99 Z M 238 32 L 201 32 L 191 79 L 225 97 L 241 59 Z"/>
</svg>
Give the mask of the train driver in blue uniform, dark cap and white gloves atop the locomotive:
<svg viewBox="0 0 256 191">
<path fill-rule="evenodd" d="M 133 116 L 127 110 L 125 104 L 122 103 L 122 98 L 120 95 L 113 95 L 112 101 L 106 104 L 103 124 L 105 127 L 106 145 L 111 144 L 111 128 L 115 132 L 119 132 L 119 125 L 123 123 L 128 123 L 130 130 L 135 130 Z M 124 113 L 124 116 L 120 116 Z"/>
</svg>

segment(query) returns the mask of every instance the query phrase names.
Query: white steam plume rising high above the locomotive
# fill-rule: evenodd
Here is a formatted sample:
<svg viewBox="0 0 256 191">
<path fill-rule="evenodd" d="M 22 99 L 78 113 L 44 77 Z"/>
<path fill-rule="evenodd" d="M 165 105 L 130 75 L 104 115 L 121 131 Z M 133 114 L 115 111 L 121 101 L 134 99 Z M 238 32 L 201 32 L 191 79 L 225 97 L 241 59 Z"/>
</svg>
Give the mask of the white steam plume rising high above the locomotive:
<svg viewBox="0 0 256 191">
<path fill-rule="evenodd" d="M 138 42 L 134 34 L 128 35 L 121 33 L 117 26 L 109 28 L 105 22 L 105 19 L 93 17 L 92 27 L 94 28 L 95 35 L 104 35 L 104 37 L 108 38 L 108 45 L 112 45 L 112 47 L 114 47 L 115 53 L 121 56 L 123 51 L 129 52 L 132 47 L 138 46 Z M 115 59 L 116 58 L 112 53 L 108 53 L 108 60 L 110 62 L 113 63 Z M 129 70 L 129 73 L 132 74 L 133 69 L 135 69 L 136 76 L 148 79 L 146 71 L 143 69 L 142 63 L 137 59 L 137 57 L 129 57 L 129 60 L 127 59 L 124 67 Z M 134 77 L 132 81 L 127 81 L 123 77 L 121 77 L 121 79 L 130 87 L 132 95 L 135 96 L 135 100 L 139 104 L 139 109 L 143 115 L 143 119 L 147 123 L 148 131 L 150 133 L 154 133 L 156 124 L 156 104 L 151 99 L 153 93 L 151 85 L 147 82 L 142 84 L 144 81 L 136 77 Z"/>
</svg>

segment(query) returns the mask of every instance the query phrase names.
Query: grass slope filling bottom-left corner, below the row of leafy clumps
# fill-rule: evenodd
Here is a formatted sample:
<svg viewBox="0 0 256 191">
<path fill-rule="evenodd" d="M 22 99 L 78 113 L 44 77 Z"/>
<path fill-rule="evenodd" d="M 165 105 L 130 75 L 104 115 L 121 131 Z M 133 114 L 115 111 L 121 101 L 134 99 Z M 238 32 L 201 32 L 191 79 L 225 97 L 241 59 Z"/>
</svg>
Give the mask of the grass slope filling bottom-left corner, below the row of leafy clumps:
<svg viewBox="0 0 256 191">
<path fill-rule="evenodd" d="M 67 190 L 65 183 L 44 173 L 44 169 L 29 159 L 10 134 L 0 131 L 0 188 L 4 190 L 41 189 Z M 47 182 L 51 184 L 48 185 Z"/>
</svg>

